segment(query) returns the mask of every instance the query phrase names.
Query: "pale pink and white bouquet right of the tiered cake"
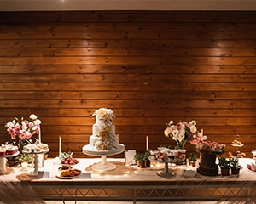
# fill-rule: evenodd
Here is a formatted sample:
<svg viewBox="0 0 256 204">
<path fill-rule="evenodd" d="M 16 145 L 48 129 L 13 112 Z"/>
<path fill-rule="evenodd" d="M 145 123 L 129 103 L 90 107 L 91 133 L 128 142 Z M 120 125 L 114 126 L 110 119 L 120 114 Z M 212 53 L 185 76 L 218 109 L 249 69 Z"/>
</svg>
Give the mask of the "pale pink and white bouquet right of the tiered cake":
<svg viewBox="0 0 256 204">
<path fill-rule="evenodd" d="M 170 121 L 166 124 L 164 133 L 166 137 L 176 142 L 177 150 L 183 150 L 187 141 L 201 137 L 198 135 L 195 121 L 178 122 L 177 124 L 174 124 L 173 121 Z"/>
</svg>

